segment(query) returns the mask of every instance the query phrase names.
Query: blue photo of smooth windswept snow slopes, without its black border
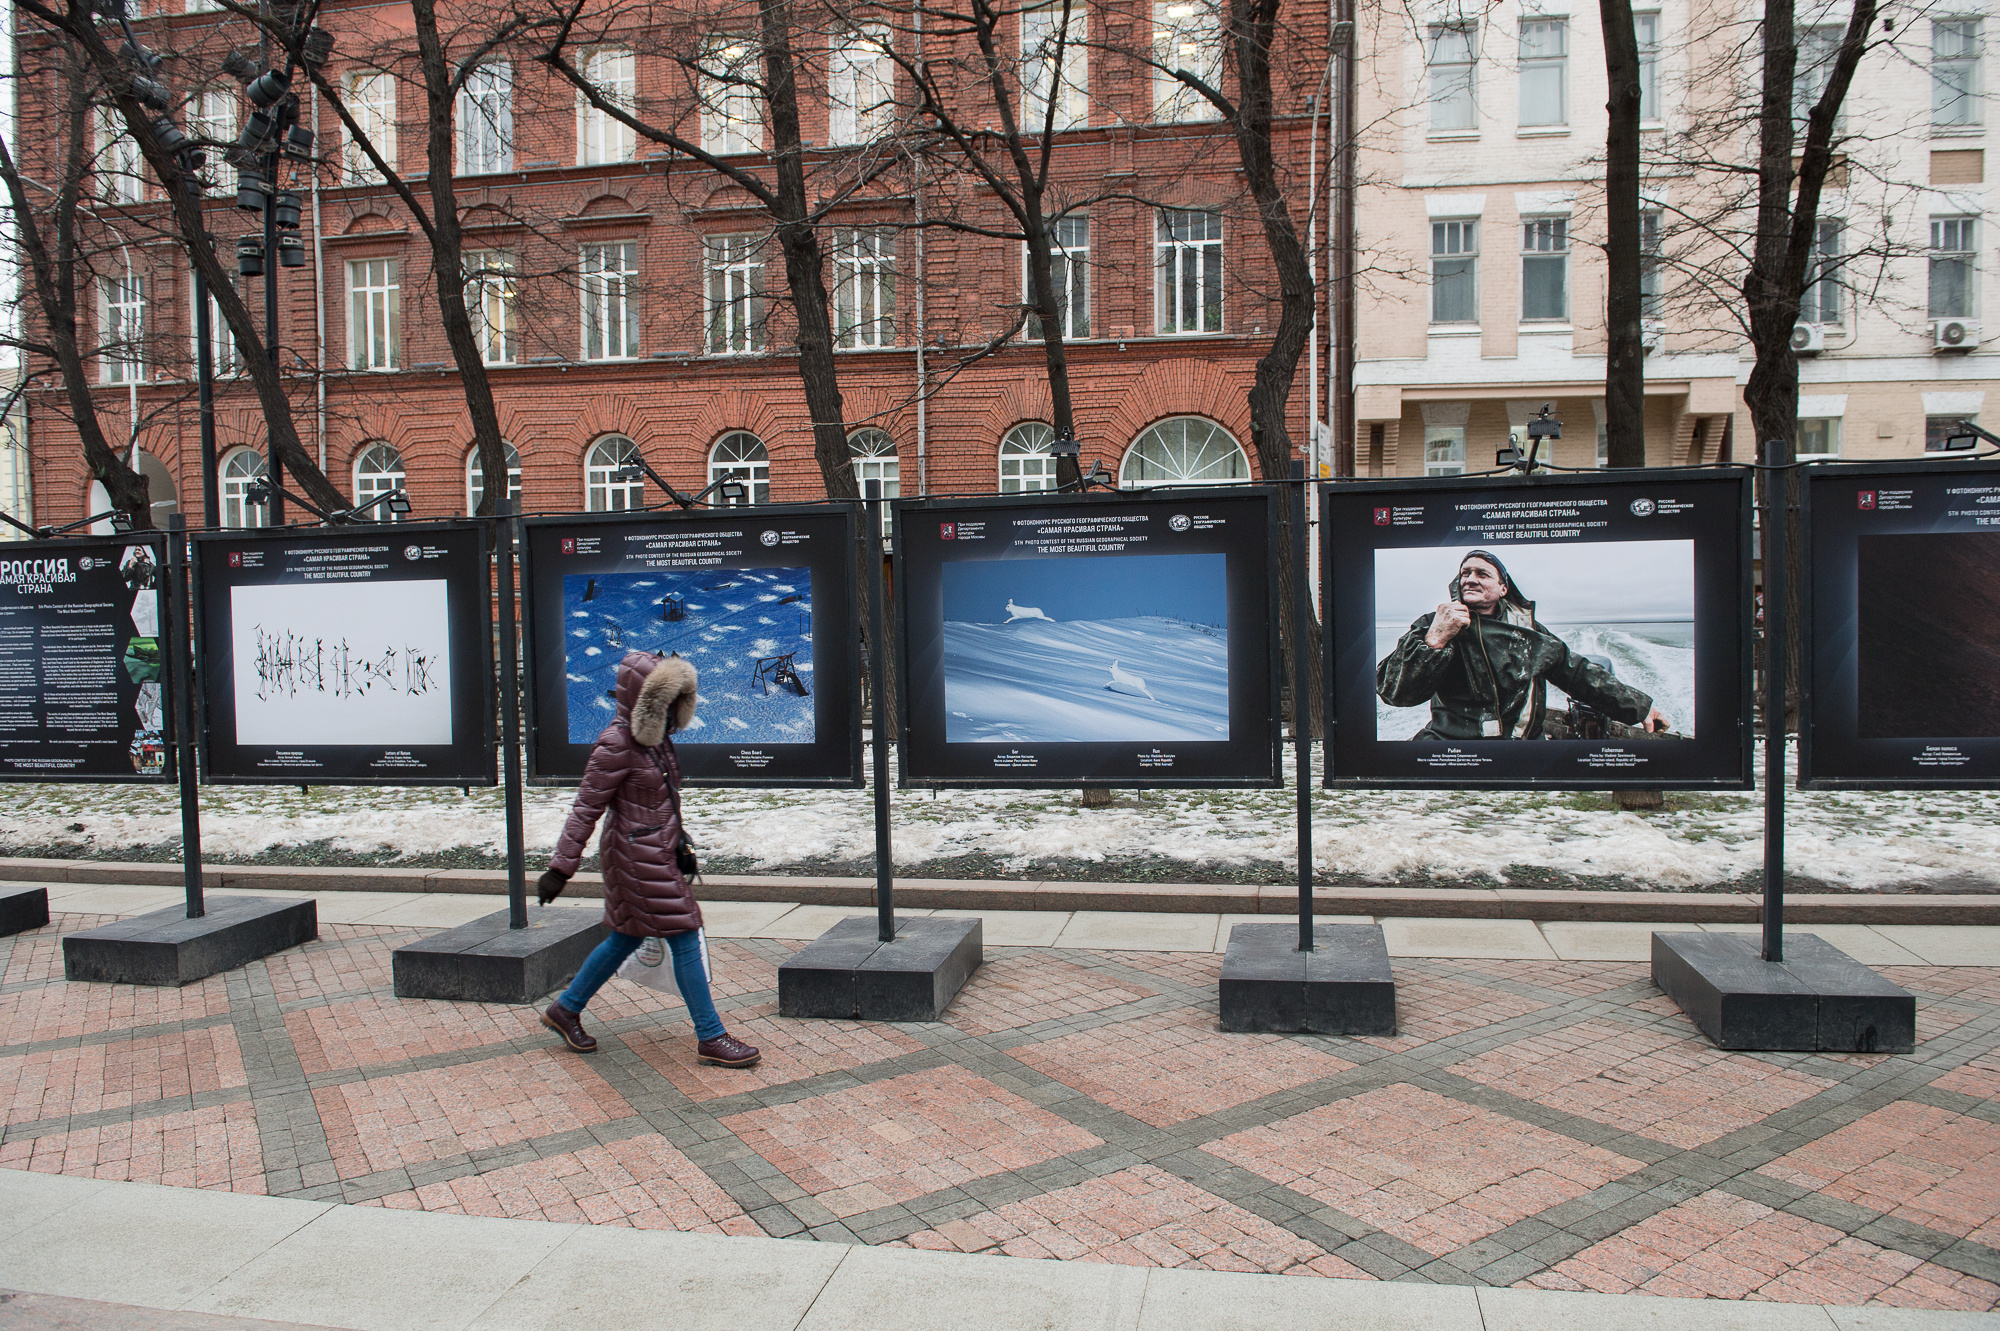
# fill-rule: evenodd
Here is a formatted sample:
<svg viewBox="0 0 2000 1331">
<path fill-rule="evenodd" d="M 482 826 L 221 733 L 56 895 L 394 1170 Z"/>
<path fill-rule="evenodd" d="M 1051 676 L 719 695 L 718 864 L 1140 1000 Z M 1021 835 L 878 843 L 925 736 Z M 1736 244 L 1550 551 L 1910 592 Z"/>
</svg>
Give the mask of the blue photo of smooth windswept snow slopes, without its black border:
<svg viewBox="0 0 2000 1331">
<path fill-rule="evenodd" d="M 1224 741 L 1228 558 L 944 566 L 948 743 Z"/>
</svg>

